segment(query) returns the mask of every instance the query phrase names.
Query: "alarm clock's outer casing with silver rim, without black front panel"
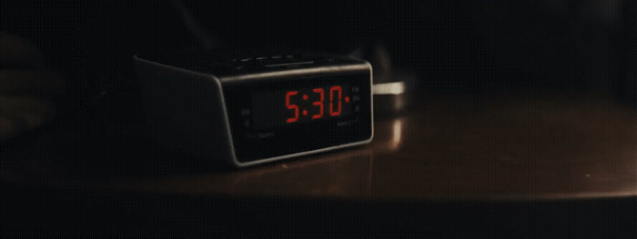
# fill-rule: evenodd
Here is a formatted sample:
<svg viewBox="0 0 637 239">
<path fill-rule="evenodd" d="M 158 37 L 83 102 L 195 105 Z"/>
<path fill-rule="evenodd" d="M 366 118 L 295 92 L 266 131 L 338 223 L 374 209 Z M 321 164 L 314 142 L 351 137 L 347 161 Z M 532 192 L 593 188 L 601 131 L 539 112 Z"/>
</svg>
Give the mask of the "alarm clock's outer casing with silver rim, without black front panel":
<svg viewBox="0 0 637 239">
<path fill-rule="evenodd" d="M 175 146 L 204 160 L 225 162 L 237 167 L 263 164 L 272 161 L 317 154 L 329 150 L 368 144 L 373 138 L 373 97 L 370 94 L 371 134 L 368 139 L 340 144 L 297 154 L 285 154 L 261 158 L 249 162 L 237 159 L 228 121 L 224 84 L 269 77 L 306 77 L 335 71 L 369 71 L 369 91 L 372 86 L 371 65 L 319 66 L 304 69 L 288 69 L 276 72 L 226 75 L 197 72 L 171 65 L 163 65 L 135 57 L 137 78 L 143 85 L 147 133 L 159 144 Z"/>
</svg>

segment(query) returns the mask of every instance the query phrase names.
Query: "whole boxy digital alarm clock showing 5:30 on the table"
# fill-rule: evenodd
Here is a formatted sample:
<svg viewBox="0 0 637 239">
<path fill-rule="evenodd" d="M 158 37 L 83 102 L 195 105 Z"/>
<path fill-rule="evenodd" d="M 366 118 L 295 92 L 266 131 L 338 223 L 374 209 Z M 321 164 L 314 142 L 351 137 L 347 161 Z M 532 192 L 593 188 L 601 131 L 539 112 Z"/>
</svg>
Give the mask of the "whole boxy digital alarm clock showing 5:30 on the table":
<svg viewBox="0 0 637 239">
<path fill-rule="evenodd" d="M 136 55 L 147 133 L 238 167 L 367 144 L 372 69 L 334 55 Z"/>
</svg>

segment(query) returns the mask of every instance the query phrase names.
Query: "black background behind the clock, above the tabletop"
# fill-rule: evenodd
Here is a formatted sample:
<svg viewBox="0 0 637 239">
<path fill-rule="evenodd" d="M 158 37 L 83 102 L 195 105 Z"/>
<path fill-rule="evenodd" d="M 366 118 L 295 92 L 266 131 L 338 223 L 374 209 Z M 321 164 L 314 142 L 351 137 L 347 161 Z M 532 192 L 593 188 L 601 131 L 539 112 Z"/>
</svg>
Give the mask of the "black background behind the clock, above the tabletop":
<svg viewBox="0 0 637 239">
<path fill-rule="evenodd" d="M 419 93 L 575 90 L 634 99 L 632 1 L 179 3 L 8 0 L 0 25 L 38 45 L 66 76 L 65 112 L 99 125 L 143 124 L 132 55 L 202 48 L 183 8 L 218 49 L 362 48 L 370 56 L 373 45 L 384 45 L 394 65 L 417 73 Z"/>
</svg>

